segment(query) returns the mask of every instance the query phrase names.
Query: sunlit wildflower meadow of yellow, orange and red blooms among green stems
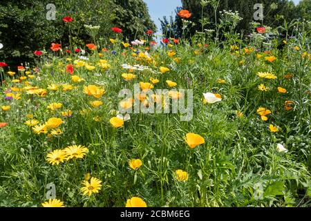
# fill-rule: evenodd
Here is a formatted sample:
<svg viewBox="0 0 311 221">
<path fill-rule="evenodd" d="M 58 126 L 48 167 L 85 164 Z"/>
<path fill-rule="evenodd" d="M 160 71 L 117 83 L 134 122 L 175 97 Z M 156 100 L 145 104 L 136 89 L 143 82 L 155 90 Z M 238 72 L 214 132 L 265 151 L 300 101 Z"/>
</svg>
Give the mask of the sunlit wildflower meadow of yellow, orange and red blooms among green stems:
<svg viewBox="0 0 311 221">
<path fill-rule="evenodd" d="M 57 17 L 68 44 L 0 57 L 0 206 L 311 205 L 311 21 L 176 16 L 181 37 L 84 23 L 86 44 Z"/>
</svg>

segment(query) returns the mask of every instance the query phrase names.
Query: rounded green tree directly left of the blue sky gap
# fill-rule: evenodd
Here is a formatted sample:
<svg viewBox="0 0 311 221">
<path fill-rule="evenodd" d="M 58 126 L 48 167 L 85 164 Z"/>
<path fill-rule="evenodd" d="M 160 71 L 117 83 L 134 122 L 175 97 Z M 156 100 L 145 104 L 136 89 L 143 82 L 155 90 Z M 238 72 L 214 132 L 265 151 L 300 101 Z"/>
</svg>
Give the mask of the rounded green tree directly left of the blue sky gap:
<svg viewBox="0 0 311 221">
<path fill-rule="evenodd" d="M 144 31 L 156 31 L 156 25 L 151 20 L 147 4 L 142 0 L 113 0 L 115 3 L 115 18 L 113 23 L 122 29 L 123 35 L 129 39 L 144 36 Z"/>
</svg>

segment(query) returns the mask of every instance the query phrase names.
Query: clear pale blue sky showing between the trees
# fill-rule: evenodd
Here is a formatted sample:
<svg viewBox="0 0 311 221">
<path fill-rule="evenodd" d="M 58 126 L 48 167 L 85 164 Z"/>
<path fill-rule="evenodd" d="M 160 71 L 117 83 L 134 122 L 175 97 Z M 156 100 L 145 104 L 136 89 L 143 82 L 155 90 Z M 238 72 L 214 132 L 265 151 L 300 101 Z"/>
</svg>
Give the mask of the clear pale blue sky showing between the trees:
<svg viewBox="0 0 311 221">
<path fill-rule="evenodd" d="M 300 0 L 292 0 L 294 3 L 299 3 Z M 160 21 L 163 16 L 169 17 L 172 13 L 175 13 L 175 9 L 178 6 L 182 6 L 180 0 L 144 0 L 149 8 L 149 13 L 151 18 L 156 23 L 158 27 L 158 32 L 160 32 Z"/>
</svg>

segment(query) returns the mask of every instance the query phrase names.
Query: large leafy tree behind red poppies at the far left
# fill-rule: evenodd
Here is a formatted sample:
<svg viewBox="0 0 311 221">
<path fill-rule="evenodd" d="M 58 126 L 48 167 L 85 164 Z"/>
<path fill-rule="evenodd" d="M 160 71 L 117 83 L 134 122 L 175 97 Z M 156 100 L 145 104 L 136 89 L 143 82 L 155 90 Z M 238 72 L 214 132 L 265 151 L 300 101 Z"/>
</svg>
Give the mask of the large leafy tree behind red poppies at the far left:
<svg viewBox="0 0 311 221">
<path fill-rule="evenodd" d="M 34 50 L 50 48 L 52 42 L 69 46 L 68 24 L 63 17 L 73 17 L 70 34 L 73 44 L 81 46 L 93 39 L 84 24 L 100 26 L 100 35 L 108 37 L 111 32 L 109 0 L 55 0 L 54 8 L 48 8 L 49 0 L 1 0 L 0 5 L 0 50 L 1 61 L 12 66 L 32 62 Z"/>
</svg>

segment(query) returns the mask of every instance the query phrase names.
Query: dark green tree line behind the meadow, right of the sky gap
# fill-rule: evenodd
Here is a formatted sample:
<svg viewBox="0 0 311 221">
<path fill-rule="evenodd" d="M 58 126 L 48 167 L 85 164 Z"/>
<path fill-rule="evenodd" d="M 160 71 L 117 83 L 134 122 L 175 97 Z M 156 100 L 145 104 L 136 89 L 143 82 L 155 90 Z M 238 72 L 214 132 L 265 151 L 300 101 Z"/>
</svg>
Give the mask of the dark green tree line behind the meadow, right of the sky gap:
<svg viewBox="0 0 311 221">
<path fill-rule="evenodd" d="M 202 3 L 206 4 L 202 8 Z M 214 13 L 214 6 L 216 8 L 216 15 Z M 256 3 L 262 3 L 263 8 L 263 24 L 265 26 L 277 27 L 282 26 L 284 20 L 290 22 L 294 19 L 306 19 L 311 21 L 311 0 L 302 0 L 298 6 L 292 1 L 288 0 L 182 0 L 182 7 L 176 8 L 176 13 L 182 9 L 189 10 L 191 17 L 187 20 L 194 23 L 194 25 L 188 26 L 188 36 L 194 35 L 197 31 L 202 31 L 202 25 L 200 19 L 206 19 L 203 30 L 210 30 L 215 28 L 216 21 L 219 22 L 220 11 L 232 10 L 232 12 L 238 11 L 242 21 L 238 23 L 236 27 L 237 32 L 249 33 L 249 23 L 254 21 L 254 5 Z M 273 5 L 272 5 L 273 3 Z M 203 9 L 203 10 L 202 10 Z M 161 20 L 162 33 L 167 37 L 181 37 L 182 36 L 182 19 L 176 15 L 176 17 L 163 17 Z M 261 23 L 261 21 L 258 21 Z"/>
</svg>

